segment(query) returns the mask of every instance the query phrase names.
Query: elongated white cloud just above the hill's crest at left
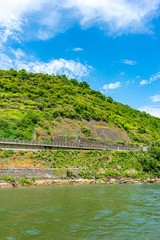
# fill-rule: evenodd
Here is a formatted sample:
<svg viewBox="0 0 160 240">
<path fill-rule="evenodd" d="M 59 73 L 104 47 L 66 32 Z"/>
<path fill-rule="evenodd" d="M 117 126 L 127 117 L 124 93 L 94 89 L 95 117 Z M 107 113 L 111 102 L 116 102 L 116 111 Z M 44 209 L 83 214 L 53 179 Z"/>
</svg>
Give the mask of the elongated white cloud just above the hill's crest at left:
<svg viewBox="0 0 160 240">
<path fill-rule="evenodd" d="M 81 79 L 87 76 L 92 70 L 91 66 L 83 65 L 80 62 L 65 59 L 54 59 L 49 62 L 41 62 L 34 59 L 29 61 L 29 57 L 24 58 L 24 52 L 21 49 L 13 50 L 15 58 L 11 59 L 9 56 L 0 53 L 0 69 L 14 68 L 17 70 L 26 69 L 28 72 L 48 73 L 48 74 L 65 74 L 68 78 Z"/>
</svg>

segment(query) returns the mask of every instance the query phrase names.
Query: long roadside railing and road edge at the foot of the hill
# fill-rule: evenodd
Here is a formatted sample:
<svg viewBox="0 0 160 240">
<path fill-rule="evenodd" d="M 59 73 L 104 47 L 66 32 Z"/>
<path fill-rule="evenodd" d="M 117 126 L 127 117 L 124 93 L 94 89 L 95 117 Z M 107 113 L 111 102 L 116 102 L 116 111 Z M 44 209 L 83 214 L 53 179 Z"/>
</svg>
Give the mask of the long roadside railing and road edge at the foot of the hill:
<svg viewBox="0 0 160 240">
<path fill-rule="evenodd" d="M 0 138 L 0 145 L 20 145 L 20 146 L 37 146 L 37 147 L 54 147 L 54 148 L 68 148 L 68 149 L 88 149 L 88 150 L 139 150 L 140 148 L 135 147 L 116 147 L 110 145 L 85 145 L 85 144 L 68 144 L 68 143 L 54 143 L 54 142 L 39 142 L 39 141 L 28 141 L 28 140 L 13 140 Z"/>
</svg>

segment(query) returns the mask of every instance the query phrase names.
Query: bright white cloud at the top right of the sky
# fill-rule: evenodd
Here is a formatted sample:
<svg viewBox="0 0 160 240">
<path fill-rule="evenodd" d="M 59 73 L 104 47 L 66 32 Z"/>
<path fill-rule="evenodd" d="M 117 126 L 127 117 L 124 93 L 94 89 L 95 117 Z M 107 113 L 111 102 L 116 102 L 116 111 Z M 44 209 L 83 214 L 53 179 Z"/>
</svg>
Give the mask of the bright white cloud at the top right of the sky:
<svg viewBox="0 0 160 240">
<path fill-rule="evenodd" d="M 159 7 L 159 0 L 70 0 L 80 13 L 82 26 L 107 27 L 110 33 L 148 31 L 146 23 Z"/>
</svg>

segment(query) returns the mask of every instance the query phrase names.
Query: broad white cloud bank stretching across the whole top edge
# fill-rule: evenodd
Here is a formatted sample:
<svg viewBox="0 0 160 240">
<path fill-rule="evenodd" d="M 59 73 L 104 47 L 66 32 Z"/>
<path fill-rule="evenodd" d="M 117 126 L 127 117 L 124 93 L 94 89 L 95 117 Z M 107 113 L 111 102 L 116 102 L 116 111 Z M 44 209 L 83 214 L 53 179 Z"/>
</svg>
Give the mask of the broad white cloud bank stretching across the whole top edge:
<svg viewBox="0 0 160 240">
<path fill-rule="evenodd" d="M 0 43 L 8 38 L 46 40 L 75 23 L 98 26 L 109 35 L 151 33 L 160 0 L 5 0 L 0 7 Z M 31 34 L 32 33 L 32 34 Z"/>
</svg>

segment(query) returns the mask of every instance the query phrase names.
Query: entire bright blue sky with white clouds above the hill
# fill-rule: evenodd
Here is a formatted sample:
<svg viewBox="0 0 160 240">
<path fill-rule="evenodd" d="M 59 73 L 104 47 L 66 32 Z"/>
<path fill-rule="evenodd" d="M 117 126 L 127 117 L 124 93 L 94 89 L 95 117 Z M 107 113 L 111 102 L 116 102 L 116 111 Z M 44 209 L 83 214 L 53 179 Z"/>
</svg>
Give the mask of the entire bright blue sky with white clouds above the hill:
<svg viewBox="0 0 160 240">
<path fill-rule="evenodd" d="M 0 0 L 0 69 L 66 74 L 160 118 L 160 0 Z"/>
</svg>

